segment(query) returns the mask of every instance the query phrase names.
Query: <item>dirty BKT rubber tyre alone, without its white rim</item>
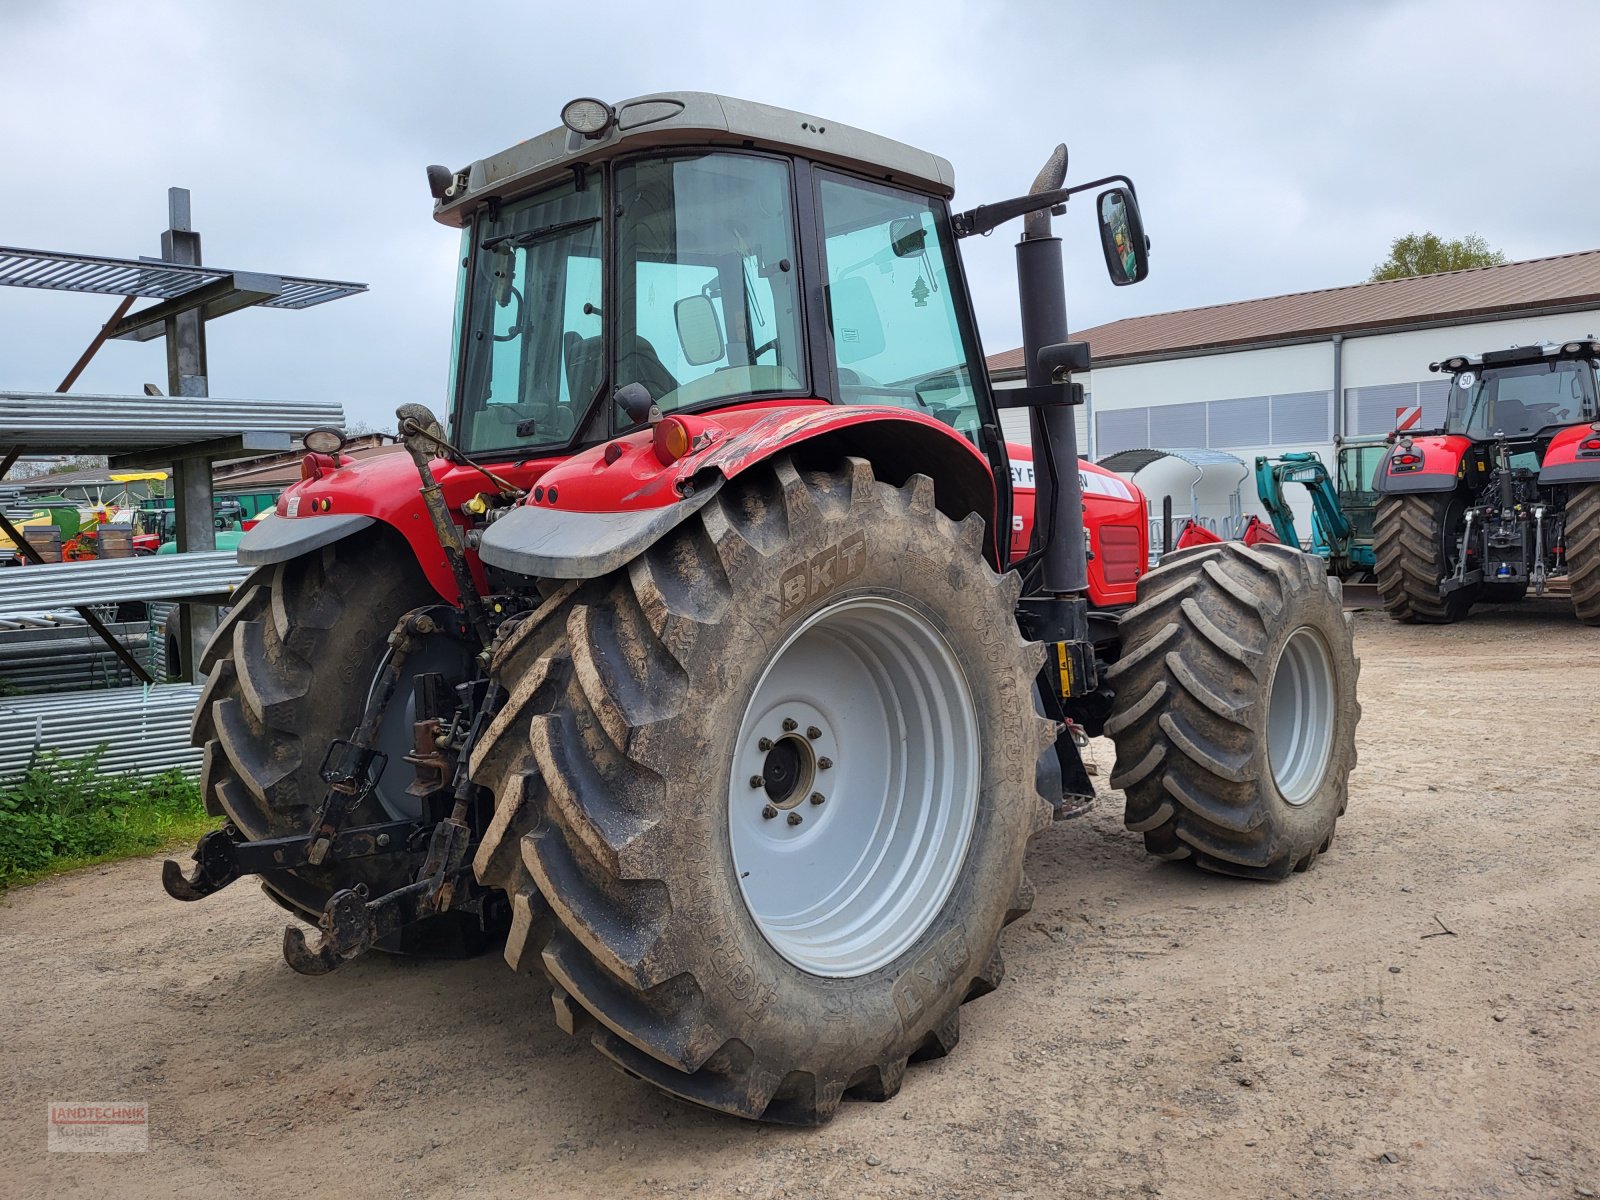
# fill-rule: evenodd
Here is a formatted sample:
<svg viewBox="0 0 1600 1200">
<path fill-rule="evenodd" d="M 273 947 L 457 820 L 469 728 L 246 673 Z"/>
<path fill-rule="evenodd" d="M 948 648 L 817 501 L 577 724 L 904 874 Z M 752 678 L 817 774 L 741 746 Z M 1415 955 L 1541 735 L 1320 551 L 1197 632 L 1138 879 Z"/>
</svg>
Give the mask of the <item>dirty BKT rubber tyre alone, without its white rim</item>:
<svg viewBox="0 0 1600 1200">
<path fill-rule="evenodd" d="M 512 698 L 474 755 L 498 797 L 477 867 L 512 898 L 507 962 L 549 971 L 563 1029 L 664 1091 L 795 1125 L 893 1096 L 907 1061 L 954 1050 L 960 1006 L 1002 979 L 1000 930 L 1030 898 L 1022 853 L 1050 818 L 1032 786 L 1053 736 L 1030 702 L 1040 648 L 1016 634 L 1016 576 L 982 542 L 979 518 L 938 512 L 926 477 L 896 488 L 864 459 L 779 459 L 509 638 L 496 672 Z M 853 598 L 915 605 L 941 629 L 982 774 L 938 915 L 893 962 L 830 978 L 787 962 L 750 915 L 728 771 L 773 654 Z M 846 803 L 808 806 L 811 821 Z"/>
</svg>

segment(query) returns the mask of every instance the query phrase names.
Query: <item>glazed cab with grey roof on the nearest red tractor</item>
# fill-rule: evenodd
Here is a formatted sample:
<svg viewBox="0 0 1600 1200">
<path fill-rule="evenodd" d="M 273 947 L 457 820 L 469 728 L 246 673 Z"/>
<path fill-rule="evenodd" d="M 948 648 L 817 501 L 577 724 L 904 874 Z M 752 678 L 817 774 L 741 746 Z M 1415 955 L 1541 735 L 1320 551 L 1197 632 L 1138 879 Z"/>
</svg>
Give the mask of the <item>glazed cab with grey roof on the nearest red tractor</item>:
<svg viewBox="0 0 1600 1200">
<path fill-rule="evenodd" d="M 1003 466 L 947 162 L 694 93 L 563 122 L 435 174 L 462 227 L 462 450 L 565 454 L 651 406 L 781 400 L 920 413 Z"/>
</svg>

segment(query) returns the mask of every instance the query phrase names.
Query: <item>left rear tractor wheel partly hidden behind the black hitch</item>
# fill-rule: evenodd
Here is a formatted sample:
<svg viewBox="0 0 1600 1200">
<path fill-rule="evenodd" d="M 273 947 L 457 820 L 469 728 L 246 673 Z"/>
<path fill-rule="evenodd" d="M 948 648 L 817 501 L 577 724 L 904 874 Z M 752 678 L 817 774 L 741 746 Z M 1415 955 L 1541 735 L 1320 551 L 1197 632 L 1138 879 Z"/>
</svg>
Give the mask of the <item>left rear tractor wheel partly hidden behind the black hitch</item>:
<svg viewBox="0 0 1600 1200">
<path fill-rule="evenodd" d="M 438 602 L 416 557 L 398 538 L 347 538 L 301 558 L 264 566 L 238 589 L 200 669 L 206 686 L 192 739 L 205 749 L 200 774 L 206 811 L 226 816 L 250 840 L 310 830 L 328 786 L 318 768 L 330 742 L 349 738 L 395 622 Z M 419 818 L 402 762 L 413 747 L 413 688 L 421 672 L 458 683 L 467 654 L 429 638 L 413 653 L 379 728 L 389 765 L 350 826 Z M 366 885 L 373 896 L 411 882 L 418 856 L 387 854 L 261 877 L 261 886 L 296 917 L 315 922 L 341 888 Z M 482 949 L 474 918 L 459 914 L 405 933 L 379 949 L 459 954 Z"/>
</svg>

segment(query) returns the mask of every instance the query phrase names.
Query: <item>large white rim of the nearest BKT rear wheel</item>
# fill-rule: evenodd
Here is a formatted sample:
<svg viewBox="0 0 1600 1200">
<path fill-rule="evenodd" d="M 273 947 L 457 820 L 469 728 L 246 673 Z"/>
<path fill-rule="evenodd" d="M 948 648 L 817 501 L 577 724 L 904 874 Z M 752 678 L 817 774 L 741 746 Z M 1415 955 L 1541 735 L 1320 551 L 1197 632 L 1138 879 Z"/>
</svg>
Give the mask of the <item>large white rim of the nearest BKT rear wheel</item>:
<svg viewBox="0 0 1600 1200">
<path fill-rule="evenodd" d="M 813 974 L 893 962 L 955 886 L 978 779 L 971 691 L 926 618 L 875 597 L 811 616 L 757 682 L 728 782 L 762 936 Z"/>
</svg>

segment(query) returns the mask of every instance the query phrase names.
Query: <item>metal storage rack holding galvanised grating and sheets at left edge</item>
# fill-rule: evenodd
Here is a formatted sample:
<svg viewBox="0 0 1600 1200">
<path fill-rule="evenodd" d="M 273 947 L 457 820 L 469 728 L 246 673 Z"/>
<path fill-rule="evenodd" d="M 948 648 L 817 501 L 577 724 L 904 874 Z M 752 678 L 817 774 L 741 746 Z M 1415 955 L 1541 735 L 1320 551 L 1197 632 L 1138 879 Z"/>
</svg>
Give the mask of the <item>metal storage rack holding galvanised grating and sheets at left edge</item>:
<svg viewBox="0 0 1600 1200">
<path fill-rule="evenodd" d="M 309 309 L 366 291 L 366 285 L 203 266 L 189 192 L 173 187 L 158 259 L 0 246 L 0 286 L 122 298 L 56 392 L 0 390 L 0 482 L 22 454 L 106 454 L 114 469 L 170 464 L 178 523 L 176 555 L 40 563 L 0 512 L 0 530 L 32 560 L 0 571 L 0 619 L 72 608 L 128 670 L 154 682 L 91 605 L 181 600 L 174 611 L 182 614 L 182 674 L 194 680 L 200 648 L 216 624 L 214 605 L 245 576 L 230 552 L 214 549 L 211 464 L 283 453 L 307 429 L 344 421 L 338 403 L 210 400 L 206 322 L 246 307 Z M 130 312 L 138 299 L 155 302 Z M 168 395 L 69 394 L 107 341 L 154 338 L 166 339 Z M 80 754 L 106 741 L 114 746 L 102 762 L 112 770 L 125 758 L 138 770 L 192 765 L 187 725 L 197 696 L 192 683 L 147 683 L 91 694 L 0 698 L 0 776 L 26 766 L 40 749 Z"/>
</svg>

